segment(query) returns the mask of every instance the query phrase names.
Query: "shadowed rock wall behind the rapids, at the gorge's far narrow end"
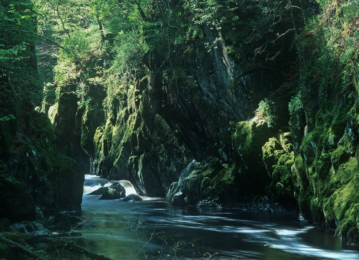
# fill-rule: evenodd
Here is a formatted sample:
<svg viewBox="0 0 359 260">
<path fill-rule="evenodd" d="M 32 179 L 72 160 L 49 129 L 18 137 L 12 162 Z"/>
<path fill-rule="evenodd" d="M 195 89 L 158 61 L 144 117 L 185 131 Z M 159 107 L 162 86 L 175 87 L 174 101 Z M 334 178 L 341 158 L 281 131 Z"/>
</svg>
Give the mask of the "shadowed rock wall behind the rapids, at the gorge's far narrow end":
<svg viewBox="0 0 359 260">
<path fill-rule="evenodd" d="M 85 173 L 96 174 L 94 168 L 94 135 L 103 123 L 102 105 L 105 98 L 102 86 L 92 86 L 88 95 L 91 102 L 79 108 L 76 94 L 78 84 L 61 88 L 58 101 L 48 110 L 48 117 L 55 128 L 55 145 L 65 156 L 73 158 Z"/>
</svg>

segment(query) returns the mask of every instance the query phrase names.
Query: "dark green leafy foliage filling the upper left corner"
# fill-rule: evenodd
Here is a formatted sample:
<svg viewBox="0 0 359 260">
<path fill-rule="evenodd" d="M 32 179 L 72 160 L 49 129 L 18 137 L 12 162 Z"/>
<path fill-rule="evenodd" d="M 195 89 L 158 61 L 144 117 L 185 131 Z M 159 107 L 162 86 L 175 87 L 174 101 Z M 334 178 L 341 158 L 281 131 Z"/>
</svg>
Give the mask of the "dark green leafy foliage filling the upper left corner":
<svg viewBox="0 0 359 260">
<path fill-rule="evenodd" d="M 2 1 L 0 20 L 1 93 L 10 90 L 6 99 L 11 100 L 14 95 L 24 100 L 41 99 L 34 53 L 36 38 L 30 34 L 36 32 L 37 21 L 31 1 Z"/>
</svg>

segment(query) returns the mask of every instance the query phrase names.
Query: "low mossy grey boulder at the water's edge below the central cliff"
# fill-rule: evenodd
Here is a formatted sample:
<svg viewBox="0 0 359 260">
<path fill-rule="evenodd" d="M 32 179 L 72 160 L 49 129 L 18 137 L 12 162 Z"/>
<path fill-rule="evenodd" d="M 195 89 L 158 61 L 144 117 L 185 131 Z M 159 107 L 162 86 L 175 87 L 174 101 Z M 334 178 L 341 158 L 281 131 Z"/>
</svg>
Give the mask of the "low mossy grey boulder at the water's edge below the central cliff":
<svg viewBox="0 0 359 260">
<path fill-rule="evenodd" d="M 193 161 L 182 171 L 178 182 L 172 183 L 166 200 L 174 205 L 209 205 L 248 207 L 255 196 L 255 185 L 236 164 L 223 164 L 209 158 L 201 164 Z"/>
</svg>

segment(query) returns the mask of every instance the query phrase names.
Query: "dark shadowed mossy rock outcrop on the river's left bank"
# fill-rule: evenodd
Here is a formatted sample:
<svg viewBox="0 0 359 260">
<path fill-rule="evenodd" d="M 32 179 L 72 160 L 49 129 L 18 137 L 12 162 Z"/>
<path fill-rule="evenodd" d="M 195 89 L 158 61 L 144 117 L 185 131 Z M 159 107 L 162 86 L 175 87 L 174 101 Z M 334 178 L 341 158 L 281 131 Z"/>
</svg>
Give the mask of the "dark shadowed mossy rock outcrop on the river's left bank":
<svg viewBox="0 0 359 260">
<path fill-rule="evenodd" d="M 11 197 L 22 197 L 8 206 L 17 205 L 17 210 L 23 213 L 7 210 L 6 214 L 14 214 L 9 219 L 33 219 L 35 205 L 44 213 L 80 210 L 84 173 L 73 159 L 56 149 L 50 120 L 31 106 L 18 111 L 17 117 L 21 124 L 0 122 L 0 143 L 4 144 L 0 156 L 4 177 L 0 181 L 6 193 L 3 193 L 6 196 L 3 205 Z M 16 191 L 9 186 L 10 182 L 17 187 Z"/>
</svg>

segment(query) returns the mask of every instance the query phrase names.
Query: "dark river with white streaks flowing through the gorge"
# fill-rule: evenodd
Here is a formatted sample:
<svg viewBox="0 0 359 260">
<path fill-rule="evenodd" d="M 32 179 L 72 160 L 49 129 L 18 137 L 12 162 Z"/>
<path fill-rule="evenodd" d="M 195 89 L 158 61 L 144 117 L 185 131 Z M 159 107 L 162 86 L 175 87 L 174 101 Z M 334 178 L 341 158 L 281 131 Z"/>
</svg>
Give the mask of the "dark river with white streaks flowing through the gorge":
<svg viewBox="0 0 359 260">
<path fill-rule="evenodd" d="M 114 182 L 86 175 L 77 229 L 87 246 L 115 259 L 359 259 L 334 232 L 297 215 L 177 207 L 162 198 L 98 200 L 87 193 Z M 131 183 L 120 181 L 126 195 Z M 143 227 L 134 224 L 145 221 Z"/>
</svg>

